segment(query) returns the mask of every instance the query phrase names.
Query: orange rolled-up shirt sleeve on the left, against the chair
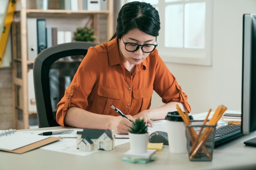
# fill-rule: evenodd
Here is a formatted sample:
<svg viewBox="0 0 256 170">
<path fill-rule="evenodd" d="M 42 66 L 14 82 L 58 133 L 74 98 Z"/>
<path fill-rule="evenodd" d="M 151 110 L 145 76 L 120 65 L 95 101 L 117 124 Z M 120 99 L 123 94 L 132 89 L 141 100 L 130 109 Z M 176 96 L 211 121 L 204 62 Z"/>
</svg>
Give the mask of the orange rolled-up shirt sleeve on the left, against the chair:
<svg viewBox="0 0 256 170">
<path fill-rule="evenodd" d="M 93 47 L 88 49 L 79 68 L 74 75 L 70 86 L 66 89 L 61 101 L 57 104 L 56 121 L 59 125 L 65 126 L 64 119 L 67 109 L 78 107 L 85 110 L 88 106 L 88 96 L 99 77 L 99 58 Z"/>
</svg>

